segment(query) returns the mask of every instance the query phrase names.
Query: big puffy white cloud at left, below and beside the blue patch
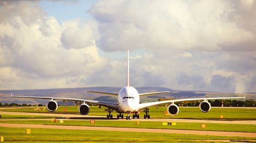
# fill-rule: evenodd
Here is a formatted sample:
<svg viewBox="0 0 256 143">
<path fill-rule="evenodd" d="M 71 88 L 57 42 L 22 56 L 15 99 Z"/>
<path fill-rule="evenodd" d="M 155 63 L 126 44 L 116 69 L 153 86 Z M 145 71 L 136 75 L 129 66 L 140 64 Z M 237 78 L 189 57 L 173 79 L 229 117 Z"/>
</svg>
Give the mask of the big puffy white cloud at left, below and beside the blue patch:
<svg viewBox="0 0 256 143">
<path fill-rule="evenodd" d="M 90 83 L 84 79 L 105 67 L 93 22 L 59 25 L 37 2 L 1 3 L 1 11 L 12 16 L 0 18 L 2 89 L 83 87 Z"/>
</svg>

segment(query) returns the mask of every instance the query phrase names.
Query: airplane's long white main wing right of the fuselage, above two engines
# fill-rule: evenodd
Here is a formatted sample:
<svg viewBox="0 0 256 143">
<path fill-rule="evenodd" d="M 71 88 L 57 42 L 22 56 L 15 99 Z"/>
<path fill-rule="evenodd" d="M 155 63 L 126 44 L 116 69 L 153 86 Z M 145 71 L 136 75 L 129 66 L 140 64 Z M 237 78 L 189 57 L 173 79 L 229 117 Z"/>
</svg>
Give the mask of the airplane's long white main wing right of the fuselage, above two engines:
<svg viewBox="0 0 256 143">
<path fill-rule="evenodd" d="M 244 99 L 244 97 L 216 97 L 216 98 L 187 98 L 187 99 L 174 99 L 174 100 L 165 100 L 165 101 L 156 101 L 156 102 L 148 102 L 148 103 L 140 103 L 139 110 L 157 106 L 161 104 L 174 103 L 174 102 L 182 102 L 182 101 L 197 101 L 197 100 L 216 100 L 216 99 Z"/>
</svg>

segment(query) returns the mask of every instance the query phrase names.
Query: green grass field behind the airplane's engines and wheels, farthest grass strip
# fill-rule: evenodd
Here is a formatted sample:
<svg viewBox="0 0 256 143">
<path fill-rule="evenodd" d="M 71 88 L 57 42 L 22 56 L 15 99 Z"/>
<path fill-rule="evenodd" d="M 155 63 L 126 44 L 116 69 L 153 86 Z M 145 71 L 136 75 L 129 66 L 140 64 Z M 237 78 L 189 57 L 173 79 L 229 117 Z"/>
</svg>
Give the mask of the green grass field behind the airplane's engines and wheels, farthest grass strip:
<svg viewBox="0 0 256 143">
<path fill-rule="evenodd" d="M 58 107 L 53 113 L 73 113 L 77 114 L 77 106 L 61 106 Z M 159 106 L 150 108 L 151 117 L 155 118 L 192 118 L 192 119 L 217 119 L 220 115 L 223 115 L 224 119 L 254 119 L 256 120 L 256 108 L 211 108 L 209 112 L 201 112 L 199 107 L 179 107 L 180 112 L 175 116 L 165 116 L 163 111 L 166 111 L 166 107 Z M 64 112 L 63 109 L 67 109 Z M 104 111 L 104 107 L 98 108 L 98 106 L 90 106 L 90 112 L 88 115 L 99 115 L 106 116 L 107 112 Z M 0 111 L 21 111 L 21 112 L 48 112 L 47 109 L 44 111 L 34 110 L 33 107 L 27 108 L 15 108 L 15 109 L 0 109 Z M 112 112 L 113 116 L 116 116 L 115 111 Z M 140 117 L 143 117 L 144 112 L 139 113 Z"/>
</svg>

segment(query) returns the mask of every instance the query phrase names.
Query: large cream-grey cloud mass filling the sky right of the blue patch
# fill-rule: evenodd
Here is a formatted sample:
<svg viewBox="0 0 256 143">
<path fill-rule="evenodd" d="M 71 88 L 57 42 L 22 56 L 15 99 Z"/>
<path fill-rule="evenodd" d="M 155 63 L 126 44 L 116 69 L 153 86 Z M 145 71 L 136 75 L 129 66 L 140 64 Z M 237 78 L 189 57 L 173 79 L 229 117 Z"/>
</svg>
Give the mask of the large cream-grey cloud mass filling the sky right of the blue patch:
<svg viewBox="0 0 256 143">
<path fill-rule="evenodd" d="M 233 92 L 250 82 L 239 79 L 255 75 L 256 31 L 249 24 L 256 21 L 254 1 L 109 3 L 98 1 L 89 11 L 98 21 L 101 38 L 97 44 L 105 51 L 145 49 L 152 54 L 152 58 L 134 61 L 134 74 L 158 73 L 164 77 L 159 85 L 174 89 Z M 184 87 L 176 82 L 181 72 L 187 79 L 198 76 L 198 80 Z M 141 80 L 145 79 L 136 83 L 143 84 Z"/>
</svg>

